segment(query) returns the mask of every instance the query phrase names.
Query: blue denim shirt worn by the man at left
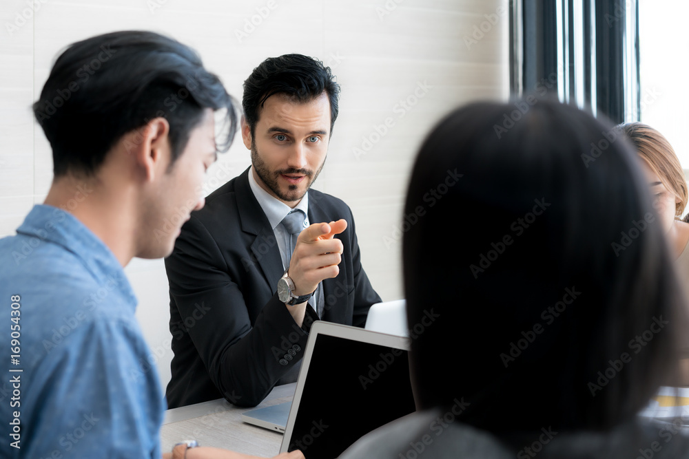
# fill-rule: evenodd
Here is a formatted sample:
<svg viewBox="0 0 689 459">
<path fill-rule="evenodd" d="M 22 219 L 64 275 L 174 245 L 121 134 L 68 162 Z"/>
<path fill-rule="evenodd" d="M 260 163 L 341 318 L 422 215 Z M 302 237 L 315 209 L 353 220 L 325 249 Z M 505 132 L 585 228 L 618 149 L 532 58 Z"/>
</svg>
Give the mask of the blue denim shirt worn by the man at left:
<svg viewBox="0 0 689 459">
<path fill-rule="evenodd" d="M 161 458 L 165 400 L 135 309 L 70 213 L 34 206 L 0 239 L 1 458 Z"/>
</svg>

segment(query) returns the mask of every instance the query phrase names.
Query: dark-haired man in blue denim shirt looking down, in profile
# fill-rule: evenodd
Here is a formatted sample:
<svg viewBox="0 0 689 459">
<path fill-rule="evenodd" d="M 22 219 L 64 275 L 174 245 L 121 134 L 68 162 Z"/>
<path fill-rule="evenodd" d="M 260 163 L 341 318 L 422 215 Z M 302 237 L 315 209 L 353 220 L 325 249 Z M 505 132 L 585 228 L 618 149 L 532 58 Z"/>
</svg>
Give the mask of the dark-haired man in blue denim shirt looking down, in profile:
<svg viewBox="0 0 689 459">
<path fill-rule="evenodd" d="M 216 145 L 215 111 L 229 130 Z M 123 267 L 168 255 L 236 112 L 196 53 L 152 32 L 74 43 L 34 115 L 54 180 L 0 240 L 2 458 L 160 458 L 165 401 Z M 173 457 L 245 457 L 181 445 Z M 205 451 L 204 451 L 205 450 Z M 188 453 L 187 453 L 188 452 Z M 300 453 L 295 456 L 302 457 Z"/>
</svg>

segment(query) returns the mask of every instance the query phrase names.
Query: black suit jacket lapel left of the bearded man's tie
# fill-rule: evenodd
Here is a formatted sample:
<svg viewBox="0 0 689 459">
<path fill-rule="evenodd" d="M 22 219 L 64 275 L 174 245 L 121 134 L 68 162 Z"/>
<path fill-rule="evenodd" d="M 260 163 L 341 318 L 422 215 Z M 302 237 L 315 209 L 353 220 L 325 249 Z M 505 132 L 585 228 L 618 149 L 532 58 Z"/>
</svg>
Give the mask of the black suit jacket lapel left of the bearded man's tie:
<svg viewBox="0 0 689 459">
<path fill-rule="evenodd" d="M 273 228 L 263 213 L 260 204 L 251 191 L 249 172 L 247 169 L 239 175 L 236 181 L 237 209 L 241 220 L 242 231 L 256 235 L 251 244 L 251 253 L 263 271 L 263 276 L 271 292 L 274 292 L 278 279 L 282 277 L 282 258 L 275 239 Z"/>
</svg>

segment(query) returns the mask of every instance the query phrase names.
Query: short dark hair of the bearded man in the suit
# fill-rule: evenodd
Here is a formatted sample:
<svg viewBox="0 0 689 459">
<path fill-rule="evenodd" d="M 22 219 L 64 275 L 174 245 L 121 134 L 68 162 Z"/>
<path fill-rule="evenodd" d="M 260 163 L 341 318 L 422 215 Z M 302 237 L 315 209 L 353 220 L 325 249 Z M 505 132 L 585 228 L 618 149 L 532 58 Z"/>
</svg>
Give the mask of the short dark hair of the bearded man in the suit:
<svg viewBox="0 0 689 459">
<path fill-rule="evenodd" d="M 285 54 L 269 57 L 251 72 L 244 82 L 242 106 L 244 117 L 251 129 L 251 138 L 265 101 L 274 94 L 285 94 L 304 103 L 327 92 L 330 101 L 330 134 L 338 118 L 340 85 L 330 67 L 316 58 L 302 54 Z"/>
</svg>

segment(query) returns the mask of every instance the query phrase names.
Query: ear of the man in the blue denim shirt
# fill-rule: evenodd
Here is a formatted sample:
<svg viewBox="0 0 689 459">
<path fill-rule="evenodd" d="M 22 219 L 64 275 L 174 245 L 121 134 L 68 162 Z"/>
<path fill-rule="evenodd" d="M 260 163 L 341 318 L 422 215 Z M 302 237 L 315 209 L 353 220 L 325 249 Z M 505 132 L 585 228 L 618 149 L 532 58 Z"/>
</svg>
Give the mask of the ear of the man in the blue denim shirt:
<svg viewBox="0 0 689 459">
<path fill-rule="evenodd" d="M 156 171 L 167 169 L 172 151 L 169 145 L 170 126 L 163 117 L 153 118 L 142 127 L 127 134 L 127 153 L 133 155 L 136 168 L 151 182 Z"/>
</svg>

